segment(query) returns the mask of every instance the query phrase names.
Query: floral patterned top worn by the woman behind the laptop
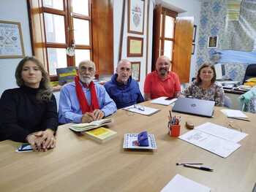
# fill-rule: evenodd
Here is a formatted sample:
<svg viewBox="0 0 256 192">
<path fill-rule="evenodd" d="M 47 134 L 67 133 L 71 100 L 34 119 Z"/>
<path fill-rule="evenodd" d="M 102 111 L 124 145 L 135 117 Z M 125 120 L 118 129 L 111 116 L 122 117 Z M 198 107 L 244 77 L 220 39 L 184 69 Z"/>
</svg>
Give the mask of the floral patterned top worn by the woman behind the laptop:
<svg viewBox="0 0 256 192">
<path fill-rule="evenodd" d="M 221 85 L 214 82 L 207 89 L 200 88 L 199 83 L 193 81 L 184 91 L 184 96 L 192 96 L 195 99 L 215 101 L 215 105 L 224 105 L 224 90 Z"/>
</svg>

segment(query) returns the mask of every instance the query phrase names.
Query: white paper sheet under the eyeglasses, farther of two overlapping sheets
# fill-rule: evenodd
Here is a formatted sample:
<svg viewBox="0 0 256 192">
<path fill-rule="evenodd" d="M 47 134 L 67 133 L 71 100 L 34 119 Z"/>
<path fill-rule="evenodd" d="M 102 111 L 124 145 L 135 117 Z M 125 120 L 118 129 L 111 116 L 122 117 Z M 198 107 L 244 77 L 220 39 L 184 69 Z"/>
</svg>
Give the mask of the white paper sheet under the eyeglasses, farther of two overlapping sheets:
<svg viewBox="0 0 256 192">
<path fill-rule="evenodd" d="M 211 134 L 222 139 L 226 139 L 230 142 L 239 142 L 241 139 L 247 136 L 247 134 L 240 131 L 236 131 L 223 126 L 218 126 L 214 123 L 203 123 L 200 126 L 195 127 L 197 131 L 203 131 L 206 134 Z"/>
</svg>

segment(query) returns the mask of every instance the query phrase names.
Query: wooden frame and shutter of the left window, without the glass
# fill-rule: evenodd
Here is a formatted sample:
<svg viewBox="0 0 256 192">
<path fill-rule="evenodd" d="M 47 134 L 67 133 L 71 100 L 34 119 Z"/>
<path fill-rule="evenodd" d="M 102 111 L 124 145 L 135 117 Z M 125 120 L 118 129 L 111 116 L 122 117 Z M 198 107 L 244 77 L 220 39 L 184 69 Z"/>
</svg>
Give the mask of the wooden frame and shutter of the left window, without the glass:
<svg viewBox="0 0 256 192">
<path fill-rule="evenodd" d="M 65 15 L 65 27 L 69 26 L 65 31 L 65 44 L 47 44 L 45 37 L 44 16 L 43 11 L 56 12 L 57 15 L 64 14 L 64 11 L 58 9 L 51 9 L 49 7 L 42 7 L 42 0 L 27 0 L 29 12 L 29 26 L 31 32 L 31 47 L 32 54 L 35 55 L 39 61 L 44 64 L 45 69 L 48 68 L 48 53 L 47 47 L 63 47 L 67 48 L 72 45 L 74 34 L 72 31 L 73 18 L 89 20 L 89 35 L 90 45 L 75 45 L 77 50 L 90 50 L 91 61 L 96 65 L 96 74 L 113 74 L 113 0 L 89 0 L 89 16 L 72 13 L 69 1 L 63 0 Z M 67 9 L 68 12 L 67 12 Z M 106 31 L 108 31 L 108 38 L 105 38 Z M 67 38 L 67 33 L 69 39 Z M 69 57 L 67 55 L 67 66 L 75 66 L 75 56 Z M 49 70 L 48 70 L 49 71 Z M 50 80 L 58 80 L 57 76 L 50 76 Z"/>
</svg>

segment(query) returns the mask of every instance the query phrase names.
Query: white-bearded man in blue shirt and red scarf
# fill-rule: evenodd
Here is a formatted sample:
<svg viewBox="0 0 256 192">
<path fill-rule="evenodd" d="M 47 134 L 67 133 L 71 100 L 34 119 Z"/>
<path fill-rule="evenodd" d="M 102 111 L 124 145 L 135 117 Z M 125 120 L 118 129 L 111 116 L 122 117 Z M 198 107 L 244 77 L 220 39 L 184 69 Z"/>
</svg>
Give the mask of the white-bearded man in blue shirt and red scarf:
<svg viewBox="0 0 256 192">
<path fill-rule="evenodd" d="M 75 82 L 61 88 L 59 123 L 89 123 L 116 112 L 116 104 L 102 85 L 94 84 L 95 64 L 81 61 Z"/>
</svg>

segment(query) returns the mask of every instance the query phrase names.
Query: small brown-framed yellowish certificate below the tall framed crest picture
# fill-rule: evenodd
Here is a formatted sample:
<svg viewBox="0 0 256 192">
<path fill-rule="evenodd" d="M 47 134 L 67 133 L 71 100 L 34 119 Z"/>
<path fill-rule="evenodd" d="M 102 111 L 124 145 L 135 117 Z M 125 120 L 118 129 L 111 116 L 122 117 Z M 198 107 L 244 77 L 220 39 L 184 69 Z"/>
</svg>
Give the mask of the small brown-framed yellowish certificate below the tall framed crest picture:
<svg viewBox="0 0 256 192">
<path fill-rule="evenodd" d="M 143 56 L 143 38 L 127 37 L 127 57 Z"/>
</svg>

